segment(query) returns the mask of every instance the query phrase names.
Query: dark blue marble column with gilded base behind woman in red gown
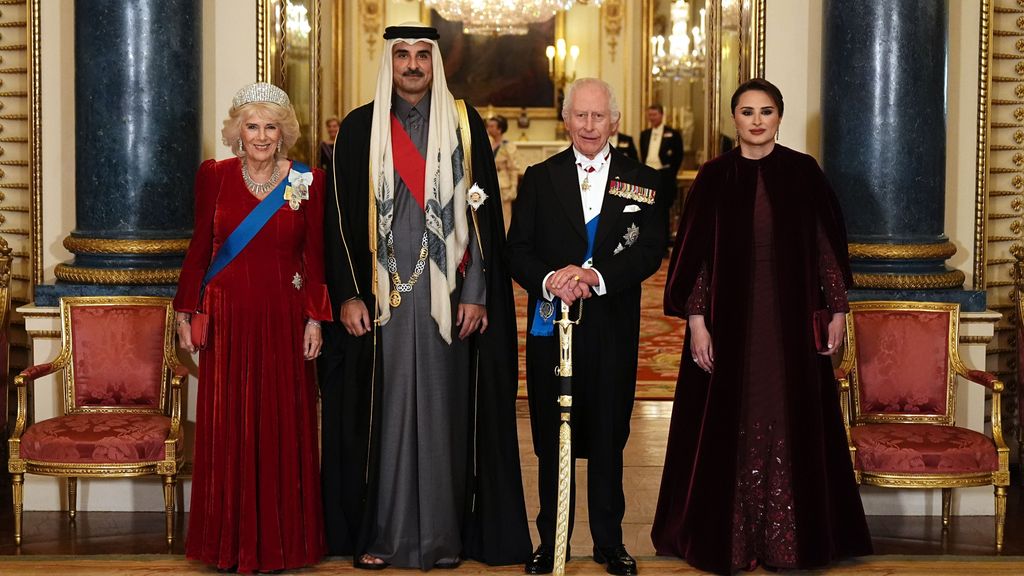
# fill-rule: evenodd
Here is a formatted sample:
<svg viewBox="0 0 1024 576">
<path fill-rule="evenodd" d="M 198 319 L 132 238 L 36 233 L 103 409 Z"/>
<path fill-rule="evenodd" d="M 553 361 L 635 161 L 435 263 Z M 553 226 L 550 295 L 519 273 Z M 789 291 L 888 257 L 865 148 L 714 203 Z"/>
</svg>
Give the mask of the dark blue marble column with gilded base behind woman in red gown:
<svg viewBox="0 0 1024 576">
<path fill-rule="evenodd" d="M 200 163 L 201 0 L 75 2 L 73 262 L 65 295 L 172 295 Z"/>
</svg>

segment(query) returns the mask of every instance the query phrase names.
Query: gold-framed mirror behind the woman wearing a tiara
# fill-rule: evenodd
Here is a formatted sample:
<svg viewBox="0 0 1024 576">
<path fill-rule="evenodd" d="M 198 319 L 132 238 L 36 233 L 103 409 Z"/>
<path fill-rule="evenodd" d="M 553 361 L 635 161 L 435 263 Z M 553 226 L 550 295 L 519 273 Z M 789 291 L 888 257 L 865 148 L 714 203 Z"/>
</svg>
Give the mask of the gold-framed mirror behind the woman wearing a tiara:
<svg viewBox="0 0 1024 576">
<path fill-rule="evenodd" d="M 300 135 L 289 156 L 316 165 L 319 147 L 321 0 L 258 0 L 257 79 L 285 89 Z"/>
</svg>

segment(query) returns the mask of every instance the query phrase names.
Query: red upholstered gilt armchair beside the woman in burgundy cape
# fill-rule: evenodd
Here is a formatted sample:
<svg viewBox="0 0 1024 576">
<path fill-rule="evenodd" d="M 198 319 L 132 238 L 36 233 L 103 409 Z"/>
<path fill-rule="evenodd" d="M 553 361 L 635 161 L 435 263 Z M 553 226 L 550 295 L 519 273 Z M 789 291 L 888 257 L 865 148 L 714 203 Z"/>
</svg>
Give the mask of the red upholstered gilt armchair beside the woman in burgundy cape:
<svg viewBox="0 0 1024 576">
<path fill-rule="evenodd" d="M 850 312 L 837 376 L 857 482 L 941 488 L 943 528 L 953 488 L 994 486 L 1001 550 L 1010 485 L 1002 382 L 961 361 L 959 304 L 851 302 Z M 991 390 L 991 438 L 955 425 L 956 376 Z"/>
</svg>

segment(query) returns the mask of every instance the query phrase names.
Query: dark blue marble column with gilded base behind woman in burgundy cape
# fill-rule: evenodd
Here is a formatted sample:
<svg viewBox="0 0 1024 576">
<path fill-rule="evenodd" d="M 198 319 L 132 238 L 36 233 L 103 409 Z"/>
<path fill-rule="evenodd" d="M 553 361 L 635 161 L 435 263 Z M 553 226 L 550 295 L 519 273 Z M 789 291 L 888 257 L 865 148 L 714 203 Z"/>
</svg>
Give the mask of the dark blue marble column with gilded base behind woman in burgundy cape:
<svg viewBox="0 0 1024 576">
<path fill-rule="evenodd" d="M 850 237 L 853 299 L 958 301 L 945 260 L 946 0 L 824 0 L 822 165 Z"/>
</svg>

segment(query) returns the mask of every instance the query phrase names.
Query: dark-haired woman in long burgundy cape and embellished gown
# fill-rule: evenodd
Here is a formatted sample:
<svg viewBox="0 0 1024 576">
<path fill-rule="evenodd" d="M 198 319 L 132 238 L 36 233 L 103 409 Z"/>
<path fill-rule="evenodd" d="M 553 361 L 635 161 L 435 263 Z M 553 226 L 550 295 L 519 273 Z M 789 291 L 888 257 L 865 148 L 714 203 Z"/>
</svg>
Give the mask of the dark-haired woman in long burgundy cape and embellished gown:
<svg viewBox="0 0 1024 576">
<path fill-rule="evenodd" d="M 688 321 L 651 538 L 723 574 L 871 550 L 829 358 L 846 230 L 814 159 L 775 143 L 782 107 L 763 79 L 733 94 L 739 148 L 697 174 L 666 286 L 667 314 Z"/>
</svg>

